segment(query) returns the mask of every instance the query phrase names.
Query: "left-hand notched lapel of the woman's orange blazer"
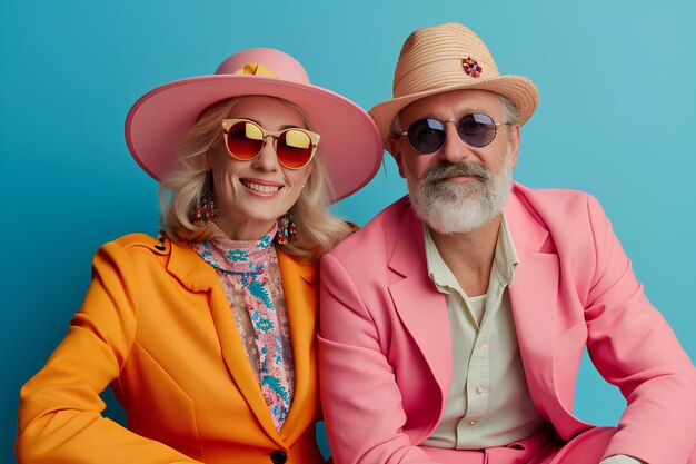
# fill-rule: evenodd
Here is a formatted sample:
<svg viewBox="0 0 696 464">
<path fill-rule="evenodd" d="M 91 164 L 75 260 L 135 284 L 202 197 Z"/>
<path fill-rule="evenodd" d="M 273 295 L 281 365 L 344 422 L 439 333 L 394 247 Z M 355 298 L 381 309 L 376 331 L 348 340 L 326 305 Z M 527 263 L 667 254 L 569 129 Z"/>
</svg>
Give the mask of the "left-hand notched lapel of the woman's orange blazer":
<svg viewBox="0 0 696 464">
<path fill-rule="evenodd" d="M 167 268 L 189 288 L 197 292 L 210 292 L 210 316 L 218 334 L 227 368 L 261 428 L 275 443 L 284 446 L 239 337 L 235 316 L 217 273 L 196 251 L 176 244 L 172 246 L 171 258 Z"/>
</svg>

